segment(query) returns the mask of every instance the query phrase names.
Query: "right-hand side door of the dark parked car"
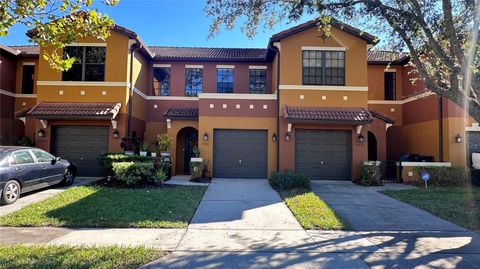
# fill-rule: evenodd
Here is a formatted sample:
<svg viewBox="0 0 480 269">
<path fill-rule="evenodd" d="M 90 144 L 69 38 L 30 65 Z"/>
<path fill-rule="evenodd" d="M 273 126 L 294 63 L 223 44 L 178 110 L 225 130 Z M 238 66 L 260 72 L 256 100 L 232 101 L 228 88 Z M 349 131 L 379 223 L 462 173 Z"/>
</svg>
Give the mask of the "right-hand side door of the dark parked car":
<svg viewBox="0 0 480 269">
<path fill-rule="evenodd" d="M 64 167 L 60 162 L 52 164 L 52 160 L 55 157 L 41 149 L 32 149 L 33 156 L 40 166 L 40 174 L 42 176 L 42 182 L 48 185 L 58 183 L 63 178 Z"/>
</svg>

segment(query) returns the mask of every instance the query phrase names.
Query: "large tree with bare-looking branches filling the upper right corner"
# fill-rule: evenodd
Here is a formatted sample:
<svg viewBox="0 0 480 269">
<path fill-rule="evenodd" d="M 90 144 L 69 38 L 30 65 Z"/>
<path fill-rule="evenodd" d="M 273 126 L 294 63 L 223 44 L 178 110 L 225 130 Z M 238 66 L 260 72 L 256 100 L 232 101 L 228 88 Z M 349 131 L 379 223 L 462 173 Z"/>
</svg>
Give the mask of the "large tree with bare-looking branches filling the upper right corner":
<svg viewBox="0 0 480 269">
<path fill-rule="evenodd" d="M 480 122 L 480 0 L 208 0 L 205 11 L 213 18 L 210 37 L 240 17 L 246 17 L 242 31 L 253 37 L 259 27 L 305 14 L 318 14 L 327 35 L 332 17 L 383 33 L 390 49 L 408 50 L 428 90 Z"/>
</svg>

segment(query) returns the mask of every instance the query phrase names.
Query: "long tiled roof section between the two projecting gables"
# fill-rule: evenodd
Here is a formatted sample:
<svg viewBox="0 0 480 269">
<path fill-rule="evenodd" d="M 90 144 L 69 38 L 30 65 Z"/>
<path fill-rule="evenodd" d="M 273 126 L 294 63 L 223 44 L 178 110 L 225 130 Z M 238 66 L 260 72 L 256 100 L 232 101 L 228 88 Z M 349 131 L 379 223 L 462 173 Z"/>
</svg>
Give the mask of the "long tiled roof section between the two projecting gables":
<svg viewBox="0 0 480 269">
<path fill-rule="evenodd" d="M 150 46 L 158 60 L 265 61 L 267 49 Z"/>
</svg>

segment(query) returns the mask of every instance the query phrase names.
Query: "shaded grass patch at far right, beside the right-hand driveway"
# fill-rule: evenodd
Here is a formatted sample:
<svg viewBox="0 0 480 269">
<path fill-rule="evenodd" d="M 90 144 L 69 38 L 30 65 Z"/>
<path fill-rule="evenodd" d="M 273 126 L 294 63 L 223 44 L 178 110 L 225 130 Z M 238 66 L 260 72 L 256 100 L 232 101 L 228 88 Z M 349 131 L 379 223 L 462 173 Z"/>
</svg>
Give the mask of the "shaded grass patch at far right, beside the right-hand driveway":
<svg viewBox="0 0 480 269">
<path fill-rule="evenodd" d="M 433 187 L 383 191 L 402 202 L 424 209 L 465 228 L 480 231 L 480 188 Z"/>
</svg>

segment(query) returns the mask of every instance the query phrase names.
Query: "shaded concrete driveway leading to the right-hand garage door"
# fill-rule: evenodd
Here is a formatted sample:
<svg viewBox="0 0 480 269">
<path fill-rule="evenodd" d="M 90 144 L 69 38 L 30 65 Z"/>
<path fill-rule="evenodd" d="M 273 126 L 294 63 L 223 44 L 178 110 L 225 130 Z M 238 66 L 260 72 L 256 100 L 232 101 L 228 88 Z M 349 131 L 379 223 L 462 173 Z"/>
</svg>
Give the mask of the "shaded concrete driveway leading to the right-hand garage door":
<svg viewBox="0 0 480 269">
<path fill-rule="evenodd" d="M 466 231 L 458 225 L 378 191 L 401 184 L 363 187 L 348 181 L 312 181 L 313 191 L 355 231 Z"/>
</svg>

